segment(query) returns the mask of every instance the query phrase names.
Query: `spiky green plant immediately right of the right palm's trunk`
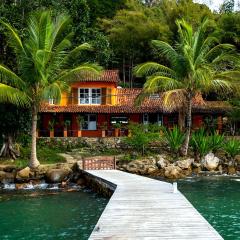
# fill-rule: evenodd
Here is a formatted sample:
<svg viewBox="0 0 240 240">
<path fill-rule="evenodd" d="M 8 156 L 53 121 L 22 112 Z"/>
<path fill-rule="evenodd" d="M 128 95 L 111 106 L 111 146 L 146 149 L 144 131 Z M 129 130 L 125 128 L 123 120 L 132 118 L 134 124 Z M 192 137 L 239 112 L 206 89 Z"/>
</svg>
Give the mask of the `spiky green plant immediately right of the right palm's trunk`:
<svg viewBox="0 0 240 240">
<path fill-rule="evenodd" d="M 212 149 L 209 138 L 206 136 L 206 132 L 203 128 L 200 128 L 192 134 L 190 146 L 192 147 L 197 160 L 202 159 Z"/>
</svg>

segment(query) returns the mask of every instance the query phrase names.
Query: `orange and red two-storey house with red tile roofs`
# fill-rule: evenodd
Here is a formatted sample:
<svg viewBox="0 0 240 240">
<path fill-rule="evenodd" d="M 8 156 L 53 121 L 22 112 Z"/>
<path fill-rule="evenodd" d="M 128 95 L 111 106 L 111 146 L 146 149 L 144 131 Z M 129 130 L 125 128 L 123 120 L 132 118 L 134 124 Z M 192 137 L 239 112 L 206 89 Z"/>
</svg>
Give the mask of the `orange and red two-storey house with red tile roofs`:
<svg viewBox="0 0 240 240">
<path fill-rule="evenodd" d="M 135 100 L 141 89 L 120 88 L 118 84 L 116 70 L 106 70 L 99 77 L 89 75 L 71 83 L 71 91 L 62 94 L 60 103 L 55 104 L 54 99 L 42 103 L 38 136 L 126 136 L 130 122 L 184 127 L 183 111 L 165 108 L 161 94 L 150 95 L 136 106 Z M 220 101 L 204 101 L 200 95 L 195 97 L 193 128 L 201 127 L 207 118 L 211 118 L 221 131 L 225 111 Z"/>
</svg>

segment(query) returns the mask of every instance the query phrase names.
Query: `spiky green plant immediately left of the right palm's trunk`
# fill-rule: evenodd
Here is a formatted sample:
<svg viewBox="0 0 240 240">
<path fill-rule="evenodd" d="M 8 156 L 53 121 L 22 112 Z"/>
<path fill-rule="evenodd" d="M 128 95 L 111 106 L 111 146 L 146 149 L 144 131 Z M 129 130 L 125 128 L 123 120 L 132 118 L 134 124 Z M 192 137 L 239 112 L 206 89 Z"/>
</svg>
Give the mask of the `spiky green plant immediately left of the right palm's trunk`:
<svg viewBox="0 0 240 240">
<path fill-rule="evenodd" d="M 173 129 L 164 129 L 164 138 L 167 142 L 170 150 L 176 155 L 179 154 L 179 150 L 183 144 L 185 134 L 180 130 L 179 127 L 174 126 Z"/>
</svg>

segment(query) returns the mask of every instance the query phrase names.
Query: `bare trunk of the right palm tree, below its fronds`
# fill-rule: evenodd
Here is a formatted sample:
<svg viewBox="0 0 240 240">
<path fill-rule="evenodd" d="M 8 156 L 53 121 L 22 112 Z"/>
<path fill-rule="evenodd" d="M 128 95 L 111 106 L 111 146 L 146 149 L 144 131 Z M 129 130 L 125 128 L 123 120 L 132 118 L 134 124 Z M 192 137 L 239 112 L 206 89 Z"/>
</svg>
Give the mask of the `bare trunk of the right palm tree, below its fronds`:
<svg viewBox="0 0 240 240">
<path fill-rule="evenodd" d="M 186 156 L 188 153 L 189 140 L 192 128 L 192 94 L 187 94 L 187 113 L 186 113 L 186 137 L 181 148 L 181 155 Z"/>
</svg>

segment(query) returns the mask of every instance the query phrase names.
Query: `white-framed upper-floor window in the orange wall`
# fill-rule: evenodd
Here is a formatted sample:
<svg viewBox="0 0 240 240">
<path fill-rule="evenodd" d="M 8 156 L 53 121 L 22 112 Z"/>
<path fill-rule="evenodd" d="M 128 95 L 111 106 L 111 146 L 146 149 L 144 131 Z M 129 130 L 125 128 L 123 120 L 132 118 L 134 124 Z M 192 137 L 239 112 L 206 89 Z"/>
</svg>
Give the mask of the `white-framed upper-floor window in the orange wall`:
<svg viewBox="0 0 240 240">
<path fill-rule="evenodd" d="M 101 104 L 100 88 L 79 88 L 79 104 Z"/>
</svg>

